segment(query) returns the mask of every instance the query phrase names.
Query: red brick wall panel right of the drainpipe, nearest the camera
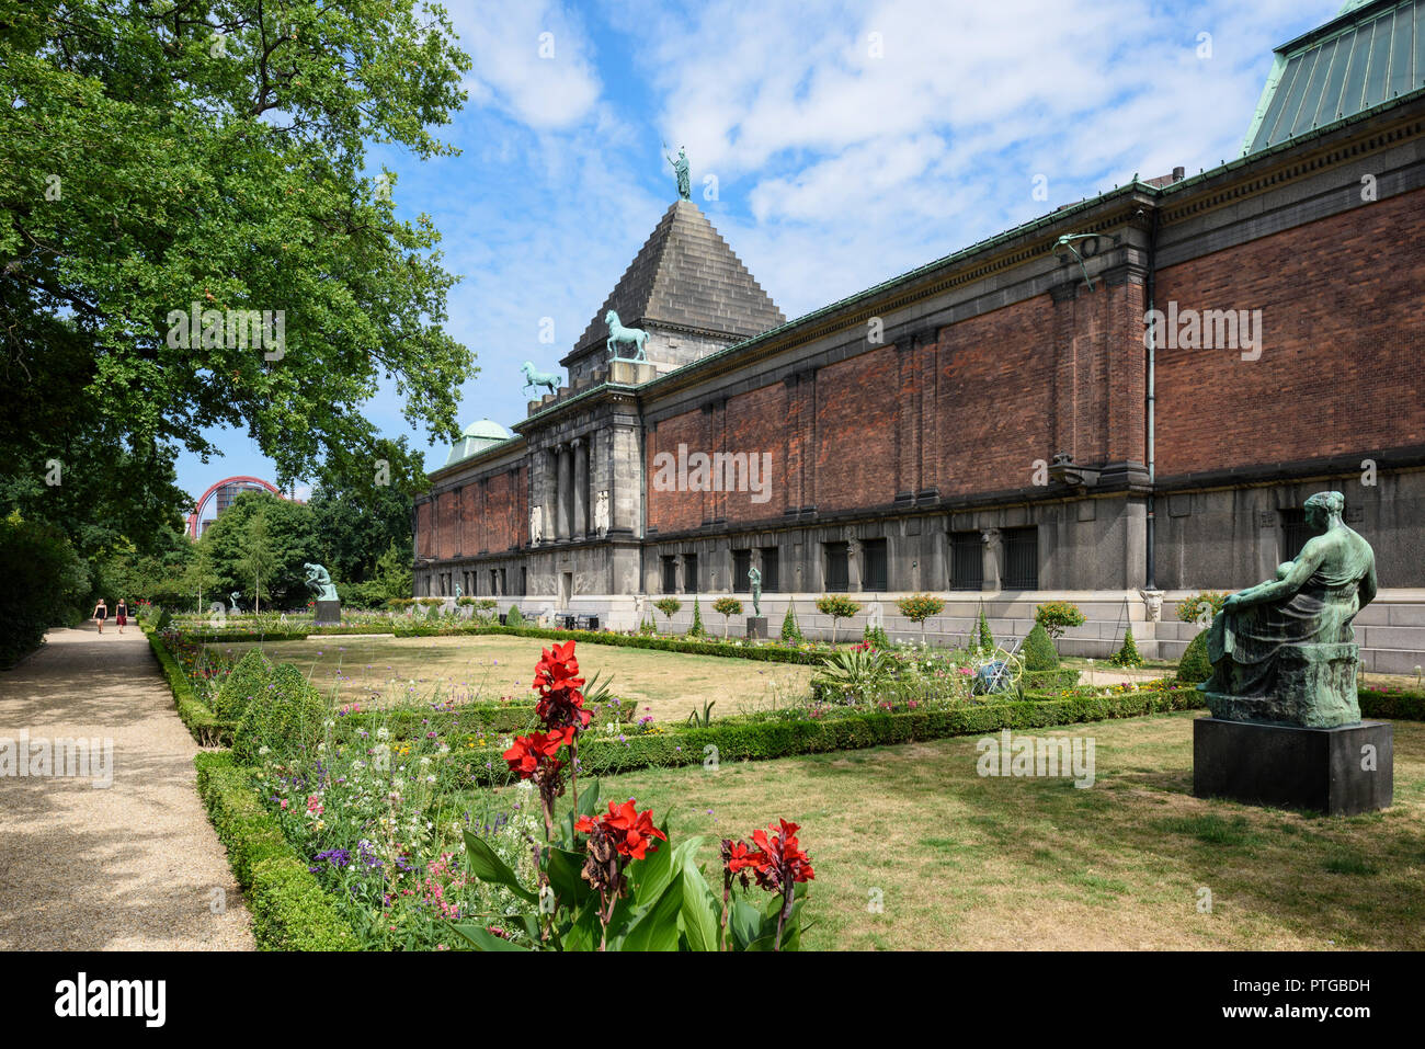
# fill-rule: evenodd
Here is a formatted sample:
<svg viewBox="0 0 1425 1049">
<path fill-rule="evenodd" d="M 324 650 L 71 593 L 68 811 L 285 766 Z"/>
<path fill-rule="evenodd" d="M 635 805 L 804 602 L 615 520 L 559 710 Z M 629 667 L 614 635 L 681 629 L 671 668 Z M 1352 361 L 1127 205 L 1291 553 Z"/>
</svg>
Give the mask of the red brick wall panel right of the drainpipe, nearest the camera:
<svg viewBox="0 0 1425 1049">
<path fill-rule="evenodd" d="M 1347 192 L 1347 190 L 1342 190 Z M 1160 309 L 1261 309 L 1261 358 L 1157 352 L 1157 472 L 1425 443 L 1425 190 L 1163 269 Z"/>
</svg>

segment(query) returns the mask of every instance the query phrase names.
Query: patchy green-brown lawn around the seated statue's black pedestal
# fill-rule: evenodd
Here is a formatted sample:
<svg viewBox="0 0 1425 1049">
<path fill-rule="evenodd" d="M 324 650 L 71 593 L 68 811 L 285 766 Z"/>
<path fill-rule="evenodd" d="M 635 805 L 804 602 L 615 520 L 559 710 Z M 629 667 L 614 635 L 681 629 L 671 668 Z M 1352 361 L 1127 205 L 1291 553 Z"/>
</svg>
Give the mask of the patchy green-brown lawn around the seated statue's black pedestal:
<svg viewBox="0 0 1425 1049">
<path fill-rule="evenodd" d="M 1064 730 L 1094 738 L 1083 790 L 980 778 L 975 738 L 603 787 L 668 814 L 674 841 L 708 835 L 714 874 L 718 838 L 802 824 L 817 869 L 809 948 L 1418 949 L 1425 725 L 1395 724 L 1394 808 L 1327 818 L 1193 798 L 1193 717 Z"/>
</svg>

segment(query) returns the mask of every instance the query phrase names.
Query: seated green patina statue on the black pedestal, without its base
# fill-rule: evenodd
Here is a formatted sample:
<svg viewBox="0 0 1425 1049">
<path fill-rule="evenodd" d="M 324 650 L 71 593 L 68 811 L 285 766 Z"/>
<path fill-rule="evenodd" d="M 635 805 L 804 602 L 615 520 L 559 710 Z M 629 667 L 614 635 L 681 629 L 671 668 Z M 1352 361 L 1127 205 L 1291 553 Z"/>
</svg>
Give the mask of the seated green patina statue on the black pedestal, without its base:
<svg viewBox="0 0 1425 1049">
<path fill-rule="evenodd" d="M 1344 510 L 1340 492 L 1311 496 L 1307 523 L 1324 534 L 1224 601 L 1207 633 L 1213 676 L 1198 686 L 1213 717 L 1304 728 L 1361 720 L 1351 620 L 1375 597 L 1375 553 Z"/>
</svg>

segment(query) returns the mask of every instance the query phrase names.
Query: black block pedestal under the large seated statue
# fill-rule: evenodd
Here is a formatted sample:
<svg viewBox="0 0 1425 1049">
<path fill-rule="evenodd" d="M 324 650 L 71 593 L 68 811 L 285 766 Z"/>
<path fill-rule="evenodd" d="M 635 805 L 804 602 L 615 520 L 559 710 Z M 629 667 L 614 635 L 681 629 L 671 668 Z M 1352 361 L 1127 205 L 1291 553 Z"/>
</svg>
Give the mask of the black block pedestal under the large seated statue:
<svg viewBox="0 0 1425 1049">
<path fill-rule="evenodd" d="M 1200 717 L 1193 723 L 1193 794 L 1248 805 L 1357 815 L 1395 792 L 1391 724 L 1298 728 Z"/>
</svg>

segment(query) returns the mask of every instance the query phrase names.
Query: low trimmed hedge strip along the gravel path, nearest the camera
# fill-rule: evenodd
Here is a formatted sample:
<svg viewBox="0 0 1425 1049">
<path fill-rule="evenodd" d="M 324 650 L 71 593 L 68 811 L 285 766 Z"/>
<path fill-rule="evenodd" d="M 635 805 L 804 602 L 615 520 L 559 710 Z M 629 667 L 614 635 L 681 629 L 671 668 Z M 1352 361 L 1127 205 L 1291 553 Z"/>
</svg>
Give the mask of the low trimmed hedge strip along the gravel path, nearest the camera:
<svg viewBox="0 0 1425 1049">
<path fill-rule="evenodd" d="M 266 811 L 247 770 L 228 753 L 198 754 L 198 795 L 228 849 L 262 951 L 359 951 L 351 924 Z"/>
</svg>

